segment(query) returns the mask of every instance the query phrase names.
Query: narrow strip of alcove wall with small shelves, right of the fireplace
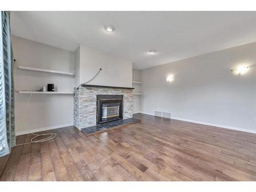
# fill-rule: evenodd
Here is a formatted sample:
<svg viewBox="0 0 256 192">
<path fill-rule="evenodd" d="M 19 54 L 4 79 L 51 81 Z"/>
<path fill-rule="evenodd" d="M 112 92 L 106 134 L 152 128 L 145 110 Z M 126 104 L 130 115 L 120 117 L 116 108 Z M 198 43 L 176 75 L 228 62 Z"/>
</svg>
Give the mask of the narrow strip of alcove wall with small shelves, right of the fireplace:
<svg viewBox="0 0 256 192">
<path fill-rule="evenodd" d="M 140 82 L 140 70 L 133 69 L 133 81 Z M 133 83 L 134 93 L 141 93 L 141 84 Z M 140 97 L 142 95 L 133 95 L 133 113 L 140 112 Z"/>
</svg>

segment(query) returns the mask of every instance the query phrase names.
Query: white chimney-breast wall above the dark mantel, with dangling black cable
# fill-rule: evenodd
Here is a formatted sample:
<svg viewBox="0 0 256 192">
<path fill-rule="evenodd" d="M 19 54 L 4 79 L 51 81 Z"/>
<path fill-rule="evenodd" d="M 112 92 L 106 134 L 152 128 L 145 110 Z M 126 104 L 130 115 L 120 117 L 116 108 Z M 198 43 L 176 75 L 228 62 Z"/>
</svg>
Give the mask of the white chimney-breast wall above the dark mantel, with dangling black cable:
<svg viewBox="0 0 256 192">
<path fill-rule="evenodd" d="M 80 48 L 80 49 L 79 49 Z M 75 86 L 90 80 L 101 68 L 99 75 L 88 84 L 115 87 L 132 87 L 132 61 L 80 46 L 76 57 L 80 56 L 79 76 L 75 77 Z M 77 52 L 80 53 L 78 54 Z M 76 59 L 75 59 L 76 60 Z M 77 59 L 78 60 L 78 59 Z"/>
</svg>

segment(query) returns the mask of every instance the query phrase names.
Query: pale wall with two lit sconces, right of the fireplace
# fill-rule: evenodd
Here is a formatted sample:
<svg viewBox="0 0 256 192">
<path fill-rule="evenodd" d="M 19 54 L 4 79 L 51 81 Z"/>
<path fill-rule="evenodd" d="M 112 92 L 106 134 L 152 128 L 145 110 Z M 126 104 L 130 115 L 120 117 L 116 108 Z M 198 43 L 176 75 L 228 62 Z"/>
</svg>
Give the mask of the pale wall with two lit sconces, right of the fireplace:
<svg viewBox="0 0 256 192">
<path fill-rule="evenodd" d="M 141 111 L 256 133 L 255 53 L 252 43 L 141 70 Z M 246 74 L 230 72 L 243 64 Z"/>
</svg>

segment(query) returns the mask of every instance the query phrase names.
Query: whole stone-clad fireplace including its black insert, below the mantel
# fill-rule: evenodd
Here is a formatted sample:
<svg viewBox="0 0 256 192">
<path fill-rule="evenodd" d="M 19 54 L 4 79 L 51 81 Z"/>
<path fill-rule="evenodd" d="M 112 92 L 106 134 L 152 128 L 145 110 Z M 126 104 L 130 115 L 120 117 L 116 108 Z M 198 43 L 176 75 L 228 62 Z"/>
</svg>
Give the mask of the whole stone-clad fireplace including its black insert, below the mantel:
<svg viewBox="0 0 256 192">
<path fill-rule="evenodd" d="M 84 84 L 78 90 L 75 89 L 74 92 L 74 126 L 79 130 L 96 125 L 106 126 L 108 123 L 117 123 L 118 120 L 115 121 L 116 119 L 121 121 L 133 117 L 133 88 Z M 108 100 L 110 102 L 104 102 Z M 103 103 L 120 103 L 119 118 L 118 116 L 110 117 L 109 113 L 105 119 L 102 119 L 100 113 L 103 113 L 101 109 Z M 111 107 L 111 105 L 109 106 Z M 113 112 L 111 113 L 113 114 Z M 114 121 L 106 122 L 111 120 L 110 118 L 113 118 Z"/>
</svg>

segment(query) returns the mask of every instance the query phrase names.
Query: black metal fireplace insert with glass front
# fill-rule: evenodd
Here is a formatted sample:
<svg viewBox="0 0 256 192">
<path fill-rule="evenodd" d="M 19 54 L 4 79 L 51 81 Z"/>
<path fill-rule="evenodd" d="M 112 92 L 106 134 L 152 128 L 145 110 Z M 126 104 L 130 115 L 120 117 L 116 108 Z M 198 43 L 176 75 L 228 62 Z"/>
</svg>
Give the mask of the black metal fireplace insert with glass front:
<svg viewBox="0 0 256 192">
<path fill-rule="evenodd" d="M 123 95 L 97 95 L 97 124 L 123 119 Z"/>
</svg>

